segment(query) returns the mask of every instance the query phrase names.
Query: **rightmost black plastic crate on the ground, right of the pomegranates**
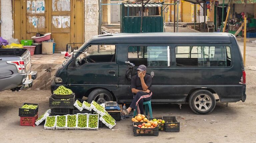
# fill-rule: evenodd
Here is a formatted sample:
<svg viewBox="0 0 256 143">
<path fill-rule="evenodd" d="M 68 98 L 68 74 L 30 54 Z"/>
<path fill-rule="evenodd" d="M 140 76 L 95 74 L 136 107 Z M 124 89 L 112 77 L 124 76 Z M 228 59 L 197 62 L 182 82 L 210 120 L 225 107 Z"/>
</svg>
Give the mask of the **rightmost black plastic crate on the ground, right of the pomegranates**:
<svg viewBox="0 0 256 143">
<path fill-rule="evenodd" d="M 179 132 L 180 122 L 177 121 L 176 116 L 162 116 L 165 121 L 166 132 Z"/>
</svg>

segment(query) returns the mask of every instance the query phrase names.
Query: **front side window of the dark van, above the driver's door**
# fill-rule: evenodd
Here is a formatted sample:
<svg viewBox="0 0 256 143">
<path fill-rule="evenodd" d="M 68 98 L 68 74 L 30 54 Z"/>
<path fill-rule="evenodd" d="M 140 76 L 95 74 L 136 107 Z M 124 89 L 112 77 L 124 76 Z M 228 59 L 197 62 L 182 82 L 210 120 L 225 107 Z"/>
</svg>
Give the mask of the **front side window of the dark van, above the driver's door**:
<svg viewBox="0 0 256 143">
<path fill-rule="evenodd" d="M 85 63 L 115 62 L 116 45 L 91 45 L 79 55 L 81 65 Z"/>
</svg>

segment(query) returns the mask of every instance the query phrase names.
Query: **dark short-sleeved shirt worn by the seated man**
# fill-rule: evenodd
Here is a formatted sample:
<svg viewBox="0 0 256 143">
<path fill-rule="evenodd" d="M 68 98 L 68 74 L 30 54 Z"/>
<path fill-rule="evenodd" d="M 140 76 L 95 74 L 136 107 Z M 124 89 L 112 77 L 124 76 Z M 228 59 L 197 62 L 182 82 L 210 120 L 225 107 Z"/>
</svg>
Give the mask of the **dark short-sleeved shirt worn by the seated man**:
<svg viewBox="0 0 256 143">
<path fill-rule="evenodd" d="M 148 90 L 150 90 L 150 87 L 152 85 L 152 77 L 150 75 L 146 74 L 144 77 L 144 82 L 148 86 Z M 137 90 L 143 90 L 143 88 L 141 86 L 140 77 L 138 75 L 132 76 L 131 88 L 135 88 Z"/>
</svg>

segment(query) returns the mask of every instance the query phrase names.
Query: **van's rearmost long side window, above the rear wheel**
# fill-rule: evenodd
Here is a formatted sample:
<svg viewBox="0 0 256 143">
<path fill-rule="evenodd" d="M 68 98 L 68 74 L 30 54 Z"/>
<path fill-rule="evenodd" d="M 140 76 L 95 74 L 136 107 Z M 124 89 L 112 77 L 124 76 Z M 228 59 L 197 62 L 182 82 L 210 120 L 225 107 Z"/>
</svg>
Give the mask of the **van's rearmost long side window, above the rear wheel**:
<svg viewBox="0 0 256 143">
<path fill-rule="evenodd" d="M 229 67 L 229 46 L 177 46 L 176 65 L 179 67 Z"/>
</svg>

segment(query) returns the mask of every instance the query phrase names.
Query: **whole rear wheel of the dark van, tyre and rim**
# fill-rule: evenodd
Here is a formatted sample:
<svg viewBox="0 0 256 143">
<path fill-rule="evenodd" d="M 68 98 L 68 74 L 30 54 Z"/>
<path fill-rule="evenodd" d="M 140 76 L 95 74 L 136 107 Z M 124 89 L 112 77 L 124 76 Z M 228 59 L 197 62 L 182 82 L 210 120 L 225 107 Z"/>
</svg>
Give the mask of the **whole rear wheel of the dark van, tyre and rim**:
<svg viewBox="0 0 256 143">
<path fill-rule="evenodd" d="M 189 107 L 197 114 L 209 114 L 215 105 L 215 98 L 208 90 L 197 90 L 189 97 Z"/>
</svg>

